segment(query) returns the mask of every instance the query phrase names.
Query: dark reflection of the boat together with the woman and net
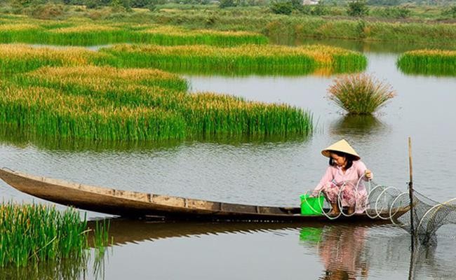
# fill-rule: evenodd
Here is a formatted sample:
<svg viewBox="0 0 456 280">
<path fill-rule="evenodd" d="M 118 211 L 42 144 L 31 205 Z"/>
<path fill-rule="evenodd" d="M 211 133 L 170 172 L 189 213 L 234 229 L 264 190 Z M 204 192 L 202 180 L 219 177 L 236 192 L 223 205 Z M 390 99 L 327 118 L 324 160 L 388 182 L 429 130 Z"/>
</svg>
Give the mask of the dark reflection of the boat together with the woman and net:
<svg viewBox="0 0 456 280">
<path fill-rule="evenodd" d="M 93 227 L 94 223 L 90 221 L 89 227 Z M 373 227 L 368 223 L 163 223 L 124 219 L 110 219 L 109 224 L 109 236 L 114 241 L 113 246 L 173 237 L 299 231 L 298 243 L 316 253 L 323 265 L 319 279 L 368 279 L 372 271 L 376 275 L 398 271 L 403 276 L 409 275 L 409 279 L 415 279 L 417 274 L 426 275 L 427 279 L 441 279 L 439 277 L 442 270 L 445 270 L 445 274 L 456 275 L 455 267 L 445 259 L 435 258 L 435 246 L 417 246 L 410 250 L 410 235 L 389 225 Z M 450 253 L 449 258 L 454 261 L 454 253 Z"/>
</svg>

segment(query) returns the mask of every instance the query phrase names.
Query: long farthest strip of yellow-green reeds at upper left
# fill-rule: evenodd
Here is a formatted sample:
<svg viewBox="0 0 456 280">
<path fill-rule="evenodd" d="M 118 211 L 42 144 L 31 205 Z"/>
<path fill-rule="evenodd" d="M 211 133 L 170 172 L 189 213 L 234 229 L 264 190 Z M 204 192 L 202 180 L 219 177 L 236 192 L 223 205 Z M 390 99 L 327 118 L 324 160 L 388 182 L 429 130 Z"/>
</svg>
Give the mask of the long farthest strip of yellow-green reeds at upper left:
<svg viewBox="0 0 456 280">
<path fill-rule="evenodd" d="M 90 22 L 34 24 L 12 22 L 0 27 L 0 43 L 40 43 L 48 45 L 105 45 L 111 43 L 152 43 L 158 45 L 242 45 L 267 44 L 262 34 L 246 31 L 190 30 L 163 25 L 115 25 Z M 53 27 L 53 28 L 52 28 Z"/>
</svg>

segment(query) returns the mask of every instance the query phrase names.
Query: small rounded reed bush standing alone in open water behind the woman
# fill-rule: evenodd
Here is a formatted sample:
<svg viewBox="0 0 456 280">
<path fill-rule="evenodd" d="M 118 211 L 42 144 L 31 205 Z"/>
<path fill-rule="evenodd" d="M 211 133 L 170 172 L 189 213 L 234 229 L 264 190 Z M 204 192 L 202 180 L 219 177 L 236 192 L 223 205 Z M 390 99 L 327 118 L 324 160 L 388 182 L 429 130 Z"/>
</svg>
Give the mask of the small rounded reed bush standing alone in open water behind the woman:
<svg viewBox="0 0 456 280">
<path fill-rule="evenodd" d="M 371 114 L 396 93 L 391 85 L 368 74 L 341 76 L 328 89 L 329 99 L 352 114 Z"/>
</svg>

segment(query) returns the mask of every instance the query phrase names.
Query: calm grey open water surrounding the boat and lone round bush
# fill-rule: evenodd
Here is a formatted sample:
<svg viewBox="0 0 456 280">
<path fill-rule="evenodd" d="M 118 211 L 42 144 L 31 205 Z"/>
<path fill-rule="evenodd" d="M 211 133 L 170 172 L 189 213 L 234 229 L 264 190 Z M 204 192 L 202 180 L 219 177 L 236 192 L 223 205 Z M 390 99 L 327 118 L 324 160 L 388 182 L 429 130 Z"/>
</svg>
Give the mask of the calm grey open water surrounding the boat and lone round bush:
<svg viewBox="0 0 456 280">
<path fill-rule="evenodd" d="M 297 205 L 327 161 L 322 148 L 351 142 L 375 181 L 405 189 L 407 137 L 413 138 L 415 188 L 434 200 L 456 197 L 456 79 L 406 76 L 391 46 L 366 50 L 367 72 L 397 96 L 375 117 L 344 116 L 326 99 L 334 77 L 187 76 L 192 91 L 285 102 L 314 113 L 309 139 L 192 141 L 102 146 L 0 142 L 1 165 L 79 183 L 248 204 Z M 0 183 L 4 200 L 43 202 Z M 106 217 L 90 213 L 89 218 Z M 105 279 L 454 279 L 456 239 L 445 230 L 433 249 L 410 253 L 406 232 L 391 225 L 256 225 L 112 221 L 114 246 Z M 413 258 L 412 258 L 413 257 Z M 86 276 L 95 279 L 93 269 Z M 1 274 L 1 273 L 0 273 Z M 77 278 L 77 277 L 76 277 Z"/>
</svg>

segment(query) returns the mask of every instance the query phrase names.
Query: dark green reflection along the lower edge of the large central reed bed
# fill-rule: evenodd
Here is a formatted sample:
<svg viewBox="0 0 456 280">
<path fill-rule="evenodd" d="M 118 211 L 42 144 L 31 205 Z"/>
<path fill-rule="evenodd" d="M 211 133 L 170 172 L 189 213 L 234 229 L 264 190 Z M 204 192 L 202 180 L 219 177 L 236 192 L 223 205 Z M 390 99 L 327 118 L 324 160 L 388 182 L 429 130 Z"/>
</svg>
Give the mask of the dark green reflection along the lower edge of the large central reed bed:
<svg viewBox="0 0 456 280">
<path fill-rule="evenodd" d="M 8 144 L 18 148 L 35 146 L 47 151 L 68 152 L 133 152 L 133 151 L 170 151 L 182 145 L 195 143 L 220 144 L 230 146 L 242 146 L 253 144 L 254 146 L 267 146 L 267 144 L 302 144 L 311 136 L 305 135 L 214 135 L 210 137 L 194 137 L 187 140 L 166 141 L 93 141 L 86 139 L 58 139 L 42 137 L 30 134 L 27 130 L 19 129 L 11 125 L 0 124 L 0 144 Z"/>
</svg>

